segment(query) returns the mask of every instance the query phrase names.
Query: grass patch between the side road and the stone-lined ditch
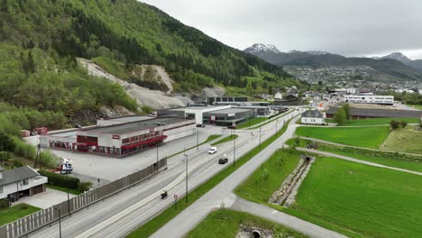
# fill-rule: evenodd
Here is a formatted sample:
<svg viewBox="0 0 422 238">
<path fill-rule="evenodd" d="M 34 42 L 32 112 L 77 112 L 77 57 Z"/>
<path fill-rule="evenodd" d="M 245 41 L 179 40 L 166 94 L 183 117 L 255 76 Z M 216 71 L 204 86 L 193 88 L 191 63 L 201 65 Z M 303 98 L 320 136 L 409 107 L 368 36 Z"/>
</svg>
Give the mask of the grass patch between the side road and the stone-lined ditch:
<svg viewBox="0 0 422 238">
<path fill-rule="evenodd" d="M 252 202 L 267 204 L 272 193 L 280 188 L 284 179 L 296 168 L 299 156 L 300 152 L 298 151 L 287 149 L 276 151 L 234 192 Z"/>
</svg>

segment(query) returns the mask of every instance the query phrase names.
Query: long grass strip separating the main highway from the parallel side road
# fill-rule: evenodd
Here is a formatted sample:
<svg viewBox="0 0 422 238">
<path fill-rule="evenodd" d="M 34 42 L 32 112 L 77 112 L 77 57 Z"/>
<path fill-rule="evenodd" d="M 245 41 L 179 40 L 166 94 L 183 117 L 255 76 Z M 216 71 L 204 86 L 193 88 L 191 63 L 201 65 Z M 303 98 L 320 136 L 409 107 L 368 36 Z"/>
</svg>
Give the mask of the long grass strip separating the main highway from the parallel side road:
<svg viewBox="0 0 422 238">
<path fill-rule="evenodd" d="M 271 136 L 266 141 L 261 142 L 261 148 L 258 145 L 254 147 L 251 151 L 243 155 L 241 158 L 237 159 L 236 167 L 233 167 L 233 166 L 227 167 L 226 169 L 218 172 L 212 178 L 209 178 L 203 185 L 189 192 L 188 203 L 180 202 L 183 200 L 183 198 L 180 197 L 177 208 L 175 206 L 169 206 L 167 209 L 162 211 L 159 215 L 155 216 L 154 218 L 152 218 L 145 224 L 142 224 L 138 229 L 134 230 L 127 237 L 132 237 L 132 238 L 149 237 L 152 233 L 155 233 L 156 231 L 158 231 L 161 226 L 168 223 L 176 215 L 179 215 L 181 211 L 183 211 L 186 207 L 190 206 L 192 203 L 197 201 L 197 199 L 199 197 L 202 197 L 204 194 L 206 194 L 206 192 L 216 187 L 216 185 L 219 184 L 221 181 L 223 181 L 223 179 L 227 178 L 230 174 L 232 174 L 234 170 L 242 167 L 244 163 L 251 160 L 262 149 L 266 148 L 272 142 L 277 140 L 277 138 L 279 138 L 284 132 L 286 132 L 289 125 L 289 121 L 280 129 L 279 133 L 277 133 L 277 136 Z"/>
</svg>

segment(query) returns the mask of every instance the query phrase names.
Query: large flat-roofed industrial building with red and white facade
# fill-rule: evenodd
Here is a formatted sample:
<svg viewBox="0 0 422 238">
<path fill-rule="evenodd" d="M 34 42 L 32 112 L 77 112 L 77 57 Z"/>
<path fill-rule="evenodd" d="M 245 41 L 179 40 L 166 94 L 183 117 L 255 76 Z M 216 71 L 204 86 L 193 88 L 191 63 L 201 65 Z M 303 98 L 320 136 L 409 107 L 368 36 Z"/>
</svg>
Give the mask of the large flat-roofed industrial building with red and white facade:
<svg viewBox="0 0 422 238">
<path fill-rule="evenodd" d="M 41 145 L 119 157 L 188 136 L 197 130 L 195 120 L 184 118 L 122 117 L 98 120 L 98 124 L 78 129 L 76 133 L 43 135 L 40 138 Z"/>
</svg>

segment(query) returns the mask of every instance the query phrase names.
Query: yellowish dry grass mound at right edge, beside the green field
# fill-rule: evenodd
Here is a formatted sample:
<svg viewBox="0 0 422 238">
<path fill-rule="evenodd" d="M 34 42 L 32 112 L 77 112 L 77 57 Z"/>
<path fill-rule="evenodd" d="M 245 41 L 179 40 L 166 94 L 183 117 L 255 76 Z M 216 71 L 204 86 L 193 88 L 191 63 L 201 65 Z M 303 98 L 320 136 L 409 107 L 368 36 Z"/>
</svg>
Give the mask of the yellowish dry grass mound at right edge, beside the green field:
<svg viewBox="0 0 422 238">
<path fill-rule="evenodd" d="M 422 131 L 411 125 L 404 129 L 394 130 L 381 148 L 390 151 L 422 154 Z"/>
</svg>

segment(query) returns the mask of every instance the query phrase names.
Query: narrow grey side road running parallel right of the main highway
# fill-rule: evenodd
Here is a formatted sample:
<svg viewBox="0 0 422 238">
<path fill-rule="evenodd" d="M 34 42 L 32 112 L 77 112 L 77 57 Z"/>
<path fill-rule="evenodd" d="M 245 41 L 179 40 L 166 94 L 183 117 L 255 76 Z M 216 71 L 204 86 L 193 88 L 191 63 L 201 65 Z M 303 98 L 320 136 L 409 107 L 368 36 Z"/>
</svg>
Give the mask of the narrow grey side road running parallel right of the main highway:
<svg viewBox="0 0 422 238">
<path fill-rule="evenodd" d="M 151 237 L 182 237 L 213 209 L 221 207 L 223 203 L 225 207 L 233 206 L 236 201 L 236 197 L 232 193 L 233 189 L 245 178 L 248 178 L 255 169 L 258 169 L 265 160 L 268 160 L 275 151 L 280 149 L 284 142 L 292 138 L 297 126 L 296 120 L 291 121 L 286 133 L 281 135 L 271 146 L 263 149 L 252 160 L 245 163 L 242 168 L 234 171 L 215 188 L 197 199 L 195 203 L 188 206 L 187 209 L 170 220 L 168 224 L 162 226 Z"/>
</svg>

